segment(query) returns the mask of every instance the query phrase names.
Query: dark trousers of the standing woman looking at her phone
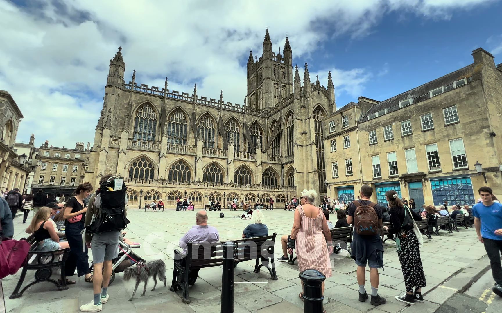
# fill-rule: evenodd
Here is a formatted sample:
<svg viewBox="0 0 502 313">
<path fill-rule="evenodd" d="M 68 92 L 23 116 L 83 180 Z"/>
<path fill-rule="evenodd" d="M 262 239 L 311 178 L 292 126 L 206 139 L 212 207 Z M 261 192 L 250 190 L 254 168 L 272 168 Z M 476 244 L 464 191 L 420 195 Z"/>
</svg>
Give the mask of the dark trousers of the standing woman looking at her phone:
<svg viewBox="0 0 502 313">
<path fill-rule="evenodd" d="M 73 276 L 75 268 L 77 269 L 78 277 L 91 272 L 89 269 L 89 256 L 87 255 L 87 247 L 82 252 L 82 235 L 80 231 L 84 228 L 83 222 L 66 223 L 66 240 L 70 245 L 70 255 L 65 263 L 65 275 Z"/>
</svg>

